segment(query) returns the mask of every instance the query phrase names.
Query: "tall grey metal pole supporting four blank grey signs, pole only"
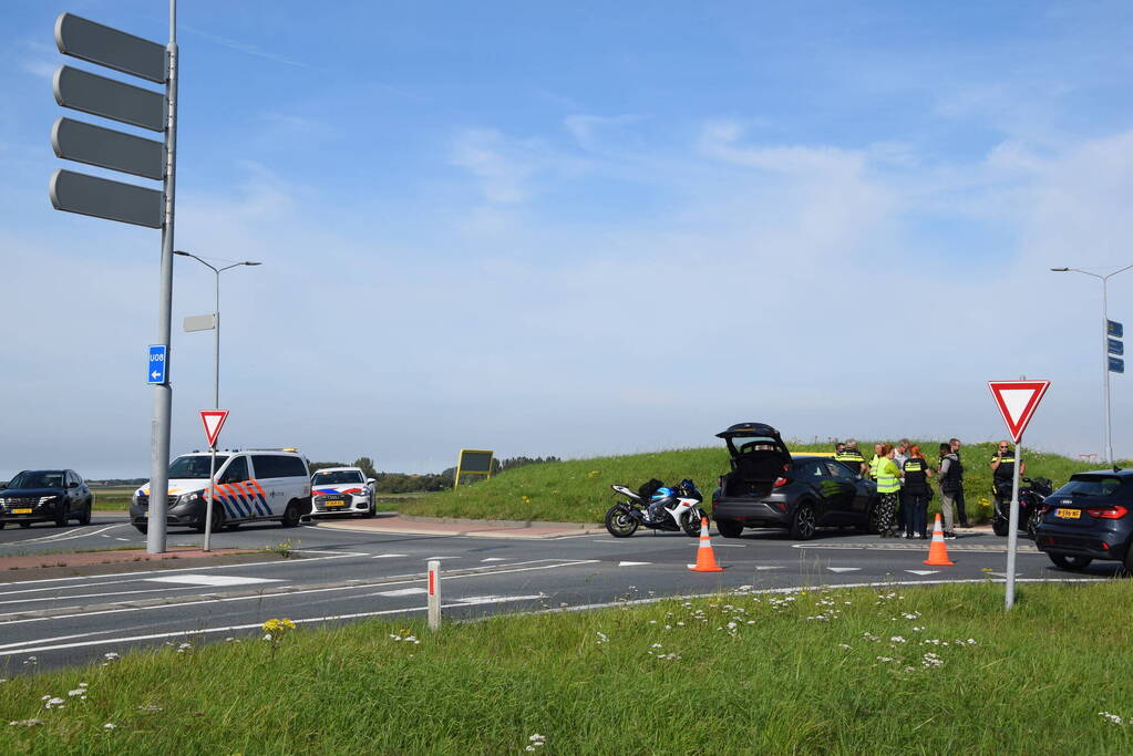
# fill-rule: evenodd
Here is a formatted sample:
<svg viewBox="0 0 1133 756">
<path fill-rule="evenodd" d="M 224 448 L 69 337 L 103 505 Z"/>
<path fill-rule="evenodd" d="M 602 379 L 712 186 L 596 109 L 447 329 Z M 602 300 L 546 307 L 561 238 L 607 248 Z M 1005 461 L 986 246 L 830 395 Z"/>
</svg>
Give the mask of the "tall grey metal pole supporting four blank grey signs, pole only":
<svg viewBox="0 0 1133 756">
<path fill-rule="evenodd" d="M 177 165 L 177 0 L 169 0 L 169 80 L 165 86 L 165 181 L 164 222 L 161 229 L 161 291 L 157 295 L 157 343 L 169 345 L 173 309 L 173 187 Z M 171 353 L 172 350 L 169 350 Z M 165 551 L 165 512 L 169 497 L 169 436 L 172 424 L 173 390 L 165 380 L 154 386 L 150 441 L 150 526 L 146 551 Z"/>
</svg>

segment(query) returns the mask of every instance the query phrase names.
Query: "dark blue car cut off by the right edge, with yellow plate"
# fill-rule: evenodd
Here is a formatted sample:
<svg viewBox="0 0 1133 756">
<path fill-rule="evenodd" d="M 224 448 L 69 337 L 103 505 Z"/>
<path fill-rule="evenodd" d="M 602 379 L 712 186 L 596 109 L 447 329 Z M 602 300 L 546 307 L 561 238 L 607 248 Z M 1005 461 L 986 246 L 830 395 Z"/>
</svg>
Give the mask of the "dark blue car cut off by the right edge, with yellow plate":
<svg viewBox="0 0 1133 756">
<path fill-rule="evenodd" d="M 1063 569 L 1105 559 L 1133 572 L 1133 470 L 1071 475 L 1043 502 L 1034 545 Z"/>
</svg>

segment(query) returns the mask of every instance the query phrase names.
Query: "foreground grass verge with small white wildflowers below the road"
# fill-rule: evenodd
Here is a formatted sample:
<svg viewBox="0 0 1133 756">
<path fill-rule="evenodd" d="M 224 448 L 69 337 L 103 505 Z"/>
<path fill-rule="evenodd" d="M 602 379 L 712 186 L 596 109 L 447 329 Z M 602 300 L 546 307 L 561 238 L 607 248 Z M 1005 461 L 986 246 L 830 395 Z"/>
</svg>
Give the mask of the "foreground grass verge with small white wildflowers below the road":
<svg viewBox="0 0 1133 756">
<path fill-rule="evenodd" d="M 190 638 L 46 675 L 17 661 L 2 750 L 1133 751 L 1128 585 L 1024 584 L 1019 601 L 1005 616 L 998 584 L 736 592 L 435 635 Z"/>
</svg>

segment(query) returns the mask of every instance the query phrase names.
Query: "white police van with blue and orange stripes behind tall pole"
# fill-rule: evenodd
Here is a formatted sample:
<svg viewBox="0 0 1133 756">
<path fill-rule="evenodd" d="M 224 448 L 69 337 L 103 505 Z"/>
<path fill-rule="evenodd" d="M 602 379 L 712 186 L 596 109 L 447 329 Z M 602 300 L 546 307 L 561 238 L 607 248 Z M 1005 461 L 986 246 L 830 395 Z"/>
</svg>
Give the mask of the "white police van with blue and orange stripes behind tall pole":
<svg viewBox="0 0 1133 756">
<path fill-rule="evenodd" d="M 169 465 L 167 524 L 204 532 L 208 466 L 207 452 L 184 454 Z M 265 519 L 295 527 L 310 512 L 310 472 L 296 449 L 218 450 L 213 480 L 213 532 Z M 145 533 L 148 518 L 146 483 L 130 499 L 130 522 Z"/>
</svg>

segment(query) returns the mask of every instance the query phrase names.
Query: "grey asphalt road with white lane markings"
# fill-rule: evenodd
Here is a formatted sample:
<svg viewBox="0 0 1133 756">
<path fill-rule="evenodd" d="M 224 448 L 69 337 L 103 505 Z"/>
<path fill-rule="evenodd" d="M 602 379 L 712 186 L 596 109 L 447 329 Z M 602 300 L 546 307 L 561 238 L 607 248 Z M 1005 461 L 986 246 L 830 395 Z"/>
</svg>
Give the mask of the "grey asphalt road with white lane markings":
<svg viewBox="0 0 1133 756">
<path fill-rule="evenodd" d="M 278 524 L 219 533 L 216 548 L 263 548 L 290 539 L 298 558 L 240 565 L 143 568 L 52 579 L 0 582 L 0 676 L 103 659 L 138 646 L 257 635 L 273 617 L 325 625 L 365 617 L 423 616 L 425 565 L 442 564 L 446 618 L 600 605 L 620 600 L 730 590 L 1002 578 L 1006 540 L 990 534 L 948 541 L 955 566 L 928 567 L 923 541 L 879 540 L 837 531 L 799 543 L 776 531 L 713 536 L 722 573 L 692 573 L 697 539 L 605 534 L 559 539 L 406 535 Z M 169 543 L 198 545 L 172 532 Z M 1117 564 L 1081 574 L 1055 569 L 1021 540 L 1023 579 L 1104 579 Z M 144 536 L 123 517 L 87 526 L 0 531 L 0 556 L 133 545 Z M 138 567 L 142 567 L 138 565 Z M 33 659 L 34 658 L 34 659 Z"/>
</svg>

